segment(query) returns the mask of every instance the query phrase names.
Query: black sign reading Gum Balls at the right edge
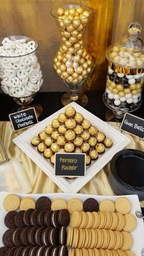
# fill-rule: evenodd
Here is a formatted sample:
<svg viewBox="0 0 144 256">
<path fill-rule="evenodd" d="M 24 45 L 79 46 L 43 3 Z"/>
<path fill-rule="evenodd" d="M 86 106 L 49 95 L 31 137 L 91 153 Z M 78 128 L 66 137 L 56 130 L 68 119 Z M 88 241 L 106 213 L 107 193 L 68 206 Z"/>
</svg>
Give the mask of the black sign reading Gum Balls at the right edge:
<svg viewBox="0 0 144 256">
<path fill-rule="evenodd" d="M 144 139 L 144 119 L 126 113 L 120 128 L 123 131 L 127 131 L 134 136 Z"/>
</svg>

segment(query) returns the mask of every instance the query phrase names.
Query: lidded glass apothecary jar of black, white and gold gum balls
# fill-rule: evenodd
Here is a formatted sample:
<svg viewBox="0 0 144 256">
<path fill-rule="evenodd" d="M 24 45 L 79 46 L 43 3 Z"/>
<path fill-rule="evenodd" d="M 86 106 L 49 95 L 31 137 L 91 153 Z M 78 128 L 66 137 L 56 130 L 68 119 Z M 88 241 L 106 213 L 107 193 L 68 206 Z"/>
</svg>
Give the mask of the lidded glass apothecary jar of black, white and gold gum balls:
<svg viewBox="0 0 144 256">
<path fill-rule="evenodd" d="M 106 50 L 108 59 L 104 104 L 117 119 L 140 108 L 144 81 L 144 44 L 138 22 L 131 23 L 128 35 Z"/>
</svg>

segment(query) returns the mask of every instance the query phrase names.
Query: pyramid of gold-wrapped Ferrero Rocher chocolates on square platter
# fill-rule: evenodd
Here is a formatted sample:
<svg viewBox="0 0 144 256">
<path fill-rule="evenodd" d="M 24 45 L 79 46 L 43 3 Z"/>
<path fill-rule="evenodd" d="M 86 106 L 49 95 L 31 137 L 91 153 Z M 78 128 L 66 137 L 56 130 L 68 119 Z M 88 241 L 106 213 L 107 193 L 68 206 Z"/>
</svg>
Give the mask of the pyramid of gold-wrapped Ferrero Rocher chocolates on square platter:
<svg viewBox="0 0 144 256">
<path fill-rule="evenodd" d="M 31 144 L 54 164 L 55 153 L 85 153 L 86 164 L 96 160 L 113 142 L 89 120 L 69 106 L 48 124 Z"/>
</svg>

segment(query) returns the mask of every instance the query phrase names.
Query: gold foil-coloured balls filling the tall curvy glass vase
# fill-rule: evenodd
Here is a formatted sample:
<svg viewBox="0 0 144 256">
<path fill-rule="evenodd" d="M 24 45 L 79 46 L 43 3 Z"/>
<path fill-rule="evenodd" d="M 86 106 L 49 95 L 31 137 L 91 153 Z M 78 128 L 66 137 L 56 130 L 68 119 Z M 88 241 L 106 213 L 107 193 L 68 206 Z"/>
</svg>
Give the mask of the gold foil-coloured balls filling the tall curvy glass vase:
<svg viewBox="0 0 144 256">
<path fill-rule="evenodd" d="M 54 70 L 67 83 L 81 83 L 91 73 L 93 62 L 84 48 L 84 28 L 92 13 L 82 7 L 57 9 L 62 45 L 54 58 Z"/>
</svg>

